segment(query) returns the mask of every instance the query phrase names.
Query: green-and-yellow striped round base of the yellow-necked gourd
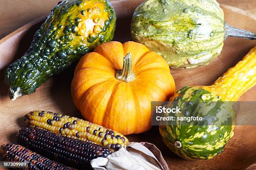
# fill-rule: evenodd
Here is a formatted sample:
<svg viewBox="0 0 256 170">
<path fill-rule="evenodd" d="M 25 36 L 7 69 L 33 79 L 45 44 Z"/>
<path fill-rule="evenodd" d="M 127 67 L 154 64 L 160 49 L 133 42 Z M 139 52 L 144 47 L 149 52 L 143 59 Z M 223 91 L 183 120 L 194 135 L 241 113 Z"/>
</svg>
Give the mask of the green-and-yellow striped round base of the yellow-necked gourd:
<svg viewBox="0 0 256 170">
<path fill-rule="evenodd" d="M 165 145 L 185 159 L 211 159 L 222 153 L 234 134 L 235 112 L 231 103 L 223 102 L 218 95 L 200 87 L 183 87 L 170 101 L 177 102 L 169 107 L 185 108 L 181 113 L 175 113 L 176 117 L 198 116 L 203 117 L 203 121 L 199 121 L 199 125 L 195 121 L 193 125 L 184 125 L 182 121 L 177 121 L 177 125 L 173 121 L 168 125 L 161 122 L 159 131 Z M 177 148 L 175 141 L 179 141 L 182 147 Z"/>
</svg>

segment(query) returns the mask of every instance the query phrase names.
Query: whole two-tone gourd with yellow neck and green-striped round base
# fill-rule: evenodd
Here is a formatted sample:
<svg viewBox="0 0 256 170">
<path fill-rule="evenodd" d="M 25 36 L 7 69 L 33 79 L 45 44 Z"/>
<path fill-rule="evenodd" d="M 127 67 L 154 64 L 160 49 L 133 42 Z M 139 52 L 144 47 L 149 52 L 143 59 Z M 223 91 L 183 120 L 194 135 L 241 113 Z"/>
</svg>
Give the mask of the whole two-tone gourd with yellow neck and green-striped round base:
<svg viewBox="0 0 256 170">
<path fill-rule="evenodd" d="M 185 159 L 211 159 L 222 153 L 234 134 L 235 112 L 232 105 L 256 85 L 255 55 L 256 47 L 211 86 L 191 86 L 177 90 L 170 99 L 174 102 L 168 107 L 185 107 L 175 116 L 204 117 L 205 122 L 193 125 L 160 122 L 160 133 L 168 148 Z"/>
</svg>

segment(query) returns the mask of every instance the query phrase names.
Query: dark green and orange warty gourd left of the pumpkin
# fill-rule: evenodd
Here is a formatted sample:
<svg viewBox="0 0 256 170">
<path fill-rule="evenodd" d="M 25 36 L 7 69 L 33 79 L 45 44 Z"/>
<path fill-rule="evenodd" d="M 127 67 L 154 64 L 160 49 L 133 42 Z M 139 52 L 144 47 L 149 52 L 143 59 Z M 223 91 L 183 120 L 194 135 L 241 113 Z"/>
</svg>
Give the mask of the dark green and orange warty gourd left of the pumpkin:
<svg viewBox="0 0 256 170">
<path fill-rule="evenodd" d="M 64 0 L 35 33 L 25 55 L 6 71 L 10 99 L 35 92 L 97 45 L 113 39 L 116 15 L 108 0 Z"/>
</svg>

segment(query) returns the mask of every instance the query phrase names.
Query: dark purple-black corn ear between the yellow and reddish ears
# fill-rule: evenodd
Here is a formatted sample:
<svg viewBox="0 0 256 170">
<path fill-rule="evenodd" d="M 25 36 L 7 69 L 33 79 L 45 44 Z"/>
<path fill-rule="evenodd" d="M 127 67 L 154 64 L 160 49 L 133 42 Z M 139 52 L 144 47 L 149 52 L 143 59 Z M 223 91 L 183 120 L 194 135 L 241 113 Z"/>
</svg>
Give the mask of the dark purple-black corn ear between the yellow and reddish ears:
<svg viewBox="0 0 256 170">
<path fill-rule="evenodd" d="M 68 138 L 42 129 L 23 128 L 19 130 L 18 144 L 78 169 L 89 169 L 92 159 L 106 158 L 112 153 L 104 146 Z"/>
</svg>

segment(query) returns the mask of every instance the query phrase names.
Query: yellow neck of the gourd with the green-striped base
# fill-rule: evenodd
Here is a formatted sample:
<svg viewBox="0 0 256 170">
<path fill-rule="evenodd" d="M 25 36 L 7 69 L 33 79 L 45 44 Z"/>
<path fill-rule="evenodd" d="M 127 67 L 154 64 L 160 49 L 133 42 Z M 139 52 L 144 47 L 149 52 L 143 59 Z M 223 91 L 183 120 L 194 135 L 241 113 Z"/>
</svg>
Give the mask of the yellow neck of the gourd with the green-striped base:
<svg viewBox="0 0 256 170">
<path fill-rule="evenodd" d="M 256 47 L 243 57 L 235 67 L 219 77 L 212 86 L 223 101 L 237 101 L 247 90 L 256 85 Z"/>
</svg>

